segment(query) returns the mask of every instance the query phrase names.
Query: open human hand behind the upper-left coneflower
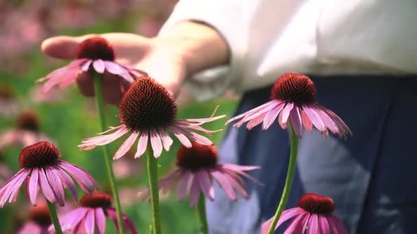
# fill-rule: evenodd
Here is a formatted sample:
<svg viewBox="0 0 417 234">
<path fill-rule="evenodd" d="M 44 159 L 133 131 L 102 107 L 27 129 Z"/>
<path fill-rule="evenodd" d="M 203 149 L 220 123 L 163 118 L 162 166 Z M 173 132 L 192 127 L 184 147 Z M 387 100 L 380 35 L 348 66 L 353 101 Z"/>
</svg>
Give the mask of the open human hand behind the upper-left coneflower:
<svg viewBox="0 0 417 234">
<path fill-rule="evenodd" d="M 184 51 L 176 46 L 178 43 L 174 38 L 145 38 L 136 34 L 123 33 L 80 37 L 55 36 L 43 42 L 42 51 L 59 59 L 75 59 L 78 44 L 94 36 L 108 40 L 115 50 L 116 62 L 145 71 L 170 90 L 174 96 L 178 94 L 187 69 Z M 93 79 L 89 73 L 80 73 L 76 80 L 82 94 L 94 96 Z M 107 103 L 117 105 L 120 102 L 123 95 L 120 84 L 125 90 L 129 85 L 117 75 L 103 74 L 104 100 Z"/>
</svg>

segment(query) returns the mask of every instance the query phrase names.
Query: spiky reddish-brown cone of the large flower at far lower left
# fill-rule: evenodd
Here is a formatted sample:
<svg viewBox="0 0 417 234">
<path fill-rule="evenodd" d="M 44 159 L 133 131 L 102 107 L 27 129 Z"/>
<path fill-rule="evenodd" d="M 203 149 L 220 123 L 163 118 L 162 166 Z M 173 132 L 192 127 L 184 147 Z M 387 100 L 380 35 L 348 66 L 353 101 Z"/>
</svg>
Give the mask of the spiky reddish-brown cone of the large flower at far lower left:
<svg viewBox="0 0 417 234">
<path fill-rule="evenodd" d="M 45 168 L 58 163 L 61 153 L 51 142 L 38 142 L 23 148 L 19 155 L 21 168 Z"/>
</svg>

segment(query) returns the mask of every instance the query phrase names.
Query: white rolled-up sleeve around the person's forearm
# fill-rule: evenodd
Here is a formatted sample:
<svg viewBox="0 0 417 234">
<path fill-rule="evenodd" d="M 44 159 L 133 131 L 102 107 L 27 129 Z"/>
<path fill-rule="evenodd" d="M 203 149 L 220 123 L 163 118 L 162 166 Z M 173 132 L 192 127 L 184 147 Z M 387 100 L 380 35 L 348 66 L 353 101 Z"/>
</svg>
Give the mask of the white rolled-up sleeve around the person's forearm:
<svg viewBox="0 0 417 234">
<path fill-rule="evenodd" d="M 230 64 L 204 70 L 189 77 L 187 88 L 199 101 L 213 99 L 230 87 L 239 86 L 240 68 L 246 53 L 246 24 L 241 0 L 180 0 L 174 12 L 160 30 L 163 35 L 167 28 L 180 21 L 201 21 L 211 25 L 224 37 L 230 49 Z M 190 31 L 190 34 L 193 32 Z"/>
</svg>

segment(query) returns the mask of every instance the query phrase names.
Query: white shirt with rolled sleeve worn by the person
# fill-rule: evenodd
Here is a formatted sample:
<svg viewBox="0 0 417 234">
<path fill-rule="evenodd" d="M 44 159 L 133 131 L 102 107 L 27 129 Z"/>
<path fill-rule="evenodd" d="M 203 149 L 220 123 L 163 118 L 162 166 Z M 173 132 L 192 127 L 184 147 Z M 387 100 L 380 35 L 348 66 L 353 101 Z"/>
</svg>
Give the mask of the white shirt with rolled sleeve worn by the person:
<svg viewBox="0 0 417 234">
<path fill-rule="evenodd" d="M 417 73 L 417 0 L 182 0 L 160 34 L 187 20 L 217 29 L 231 54 L 187 81 L 200 100 L 287 72 Z"/>
</svg>

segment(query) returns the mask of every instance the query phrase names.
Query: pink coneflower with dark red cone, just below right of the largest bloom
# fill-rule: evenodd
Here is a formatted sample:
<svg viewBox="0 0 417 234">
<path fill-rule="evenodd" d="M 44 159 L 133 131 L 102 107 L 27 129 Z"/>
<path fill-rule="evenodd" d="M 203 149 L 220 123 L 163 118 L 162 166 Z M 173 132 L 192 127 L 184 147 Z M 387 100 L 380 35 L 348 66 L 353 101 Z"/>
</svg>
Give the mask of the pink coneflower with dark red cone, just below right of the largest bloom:
<svg viewBox="0 0 417 234">
<path fill-rule="evenodd" d="M 236 192 L 248 197 L 241 176 L 254 180 L 246 171 L 259 169 L 259 166 L 239 166 L 235 164 L 219 164 L 215 146 L 192 142 L 192 147 L 182 146 L 177 153 L 176 169 L 160 179 L 159 190 L 164 192 L 179 182 L 178 199 L 182 200 L 189 193 L 190 205 L 198 203 L 200 194 L 209 200 L 214 200 L 213 180 L 222 186 L 231 200 L 236 200 Z M 141 190 L 138 194 L 143 200 L 150 196 L 149 189 Z"/>
</svg>

